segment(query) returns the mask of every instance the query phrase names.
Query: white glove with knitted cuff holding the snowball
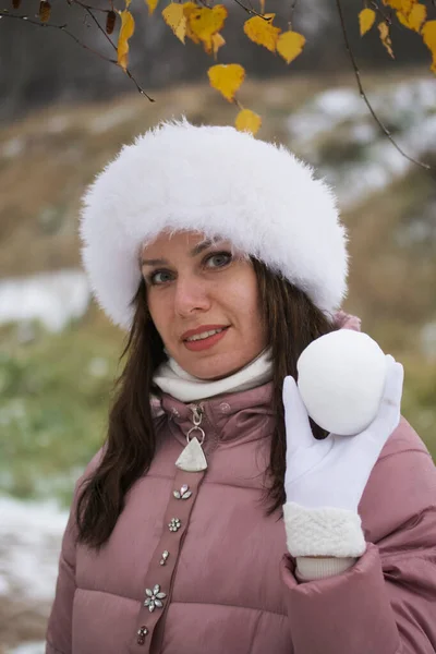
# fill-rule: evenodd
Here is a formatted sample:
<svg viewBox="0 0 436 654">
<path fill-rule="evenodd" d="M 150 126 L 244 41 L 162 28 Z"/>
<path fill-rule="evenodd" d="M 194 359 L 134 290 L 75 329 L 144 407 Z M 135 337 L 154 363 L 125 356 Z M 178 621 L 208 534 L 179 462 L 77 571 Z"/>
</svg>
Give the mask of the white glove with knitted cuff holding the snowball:
<svg viewBox="0 0 436 654">
<path fill-rule="evenodd" d="M 379 453 L 400 421 L 403 368 L 386 356 L 378 413 L 355 436 L 316 440 L 293 377 L 283 383 L 287 470 L 283 507 L 290 554 L 358 557 L 366 548 L 358 506 Z"/>
</svg>

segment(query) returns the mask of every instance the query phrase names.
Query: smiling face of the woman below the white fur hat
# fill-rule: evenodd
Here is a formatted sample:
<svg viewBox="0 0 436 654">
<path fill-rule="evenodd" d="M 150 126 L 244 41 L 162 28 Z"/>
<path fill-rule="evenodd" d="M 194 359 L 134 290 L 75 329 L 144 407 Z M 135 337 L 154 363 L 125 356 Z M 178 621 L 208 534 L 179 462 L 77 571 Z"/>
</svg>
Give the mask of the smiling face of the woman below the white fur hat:
<svg viewBox="0 0 436 654">
<path fill-rule="evenodd" d="M 256 274 L 250 259 L 231 254 L 229 241 L 205 243 L 198 232 L 171 238 L 161 233 L 143 249 L 141 258 L 153 322 L 184 371 L 202 379 L 220 379 L 264 350 Z M 210 326 L 225 330 L 186 342 L 186 331 L 198 327 L 209 331 Z"/>
</svg>

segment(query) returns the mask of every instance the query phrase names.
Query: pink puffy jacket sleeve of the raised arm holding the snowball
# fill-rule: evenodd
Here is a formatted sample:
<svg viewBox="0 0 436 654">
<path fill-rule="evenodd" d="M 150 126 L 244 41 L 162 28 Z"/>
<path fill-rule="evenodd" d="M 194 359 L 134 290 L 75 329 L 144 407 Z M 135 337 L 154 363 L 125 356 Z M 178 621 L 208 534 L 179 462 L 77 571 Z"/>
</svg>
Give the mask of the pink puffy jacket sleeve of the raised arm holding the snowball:
<svg viewBox="0 0 436 654">
<path fill-rule="evenodd" d="M 366 550 L 354 566 L 300 582 L 283 557 L 294 654 L 436 653 L 436 468 L 405 421 L 392 443 L 359 507 Z"/>
</svg>

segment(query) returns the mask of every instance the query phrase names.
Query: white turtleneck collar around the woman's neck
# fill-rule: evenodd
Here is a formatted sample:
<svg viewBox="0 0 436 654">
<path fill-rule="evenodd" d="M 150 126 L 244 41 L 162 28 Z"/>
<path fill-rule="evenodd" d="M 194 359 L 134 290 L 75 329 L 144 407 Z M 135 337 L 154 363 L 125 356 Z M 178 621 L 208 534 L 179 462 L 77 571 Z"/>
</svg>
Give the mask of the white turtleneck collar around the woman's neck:
<svg viewBox="0 0 436 654">
<path fill-rule="evenodd" d="M 171 356 L 156 371 L 153 380 L 164 391 L 180 400 L 192 402 L 223 392 L 250 390 L 272 379 L 270 349 L 263 350 L 243 368 L 222 379 L 208 382 L 186 373 Z"/>
</svg>

